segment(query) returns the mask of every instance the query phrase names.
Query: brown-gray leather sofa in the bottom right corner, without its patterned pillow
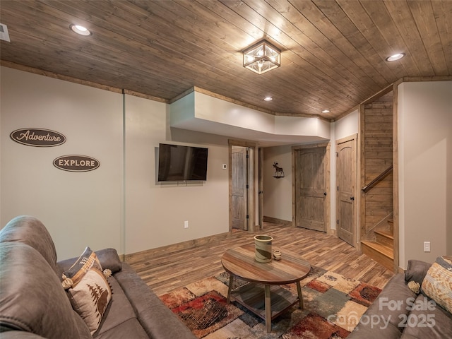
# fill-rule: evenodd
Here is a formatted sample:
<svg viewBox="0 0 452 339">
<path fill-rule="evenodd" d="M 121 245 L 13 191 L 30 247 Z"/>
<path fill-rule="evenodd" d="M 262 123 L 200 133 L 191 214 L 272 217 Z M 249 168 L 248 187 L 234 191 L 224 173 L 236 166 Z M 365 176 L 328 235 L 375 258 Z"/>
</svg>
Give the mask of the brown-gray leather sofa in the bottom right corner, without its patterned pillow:
<svg viewBox="0 0 452 339">
<path fill-rule="evenodd" d="M 410 260 L 405 274 L 396 274 L 364 313 L 347 339 L 446 339 L 452 338 L 452 314 L 427 297 L 413 292 L 408 283 L 422 286 L 432 263 Z M 444 280 L 452 287 L 451 278 Z M 449 290 L 448 297 L 452 297 Z"/>
</svg>

